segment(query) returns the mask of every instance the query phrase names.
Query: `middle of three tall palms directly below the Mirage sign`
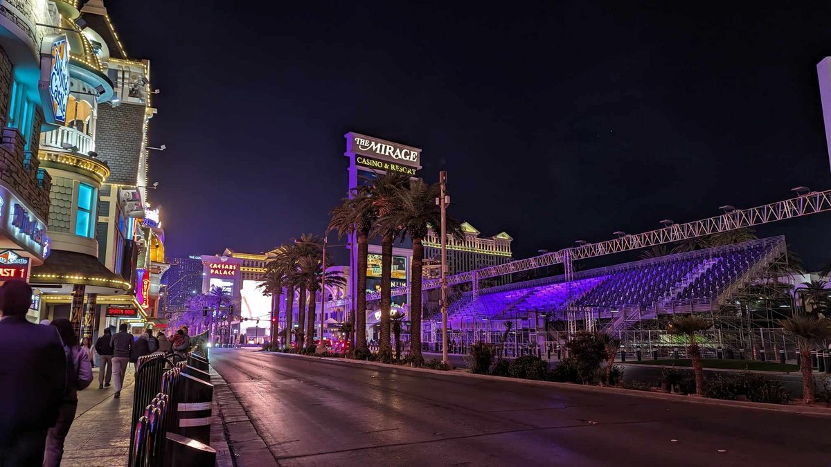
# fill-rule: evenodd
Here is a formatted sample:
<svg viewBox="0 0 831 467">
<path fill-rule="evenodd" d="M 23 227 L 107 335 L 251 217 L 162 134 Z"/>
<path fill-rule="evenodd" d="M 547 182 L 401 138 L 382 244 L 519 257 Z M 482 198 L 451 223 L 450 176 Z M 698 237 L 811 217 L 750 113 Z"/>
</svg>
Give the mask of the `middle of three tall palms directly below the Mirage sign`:
<svg viewBox="0 0 831 467">
<path fill-rule="evenodd" d="M 370 196 L 372 205 L 378 210 L 381 219 L 396 204 L 398 189 L 406 186 L 406 175 L 394 172 L 380 175 L 371 181 Z M 392 304 L 392 242 L 398 233 L 398 226 L 393 224 L 375 224 L 372 234 L 381 237 L 381 339 L 378 342 L 378 356 L 382 362 L 391 361 L 392 349 L 390 346 L 390 307 Z M 365 268 L 366 269 L 366 268 Z"/>
</svg>

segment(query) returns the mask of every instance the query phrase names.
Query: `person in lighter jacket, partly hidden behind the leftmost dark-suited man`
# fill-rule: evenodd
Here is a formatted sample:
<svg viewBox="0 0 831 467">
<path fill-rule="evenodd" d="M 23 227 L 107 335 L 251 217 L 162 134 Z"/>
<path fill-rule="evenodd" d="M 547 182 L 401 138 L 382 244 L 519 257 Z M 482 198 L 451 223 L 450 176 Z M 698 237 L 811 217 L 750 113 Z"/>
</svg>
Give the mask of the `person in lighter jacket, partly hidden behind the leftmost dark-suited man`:
<svg viewBox="0 0 831 467">
<path fill-rule="evenodd" d="M 61 465 L 63 442 L 66 440 L 78 409 L 78 391 L 86 389 L 86 386 L 90 386 L 92 382 L 89 353 L 86 348 L 78 345 L 78 338 L 69 320 L 65 317 L 53 319 L 52 326 L 57 328 L 63 341 L 63 351 L 66 356 L 66 386 L 64 386 L 63 400 L 58 410 L 57 423 L 48 431 L 44 467 Z"/>
</svg>

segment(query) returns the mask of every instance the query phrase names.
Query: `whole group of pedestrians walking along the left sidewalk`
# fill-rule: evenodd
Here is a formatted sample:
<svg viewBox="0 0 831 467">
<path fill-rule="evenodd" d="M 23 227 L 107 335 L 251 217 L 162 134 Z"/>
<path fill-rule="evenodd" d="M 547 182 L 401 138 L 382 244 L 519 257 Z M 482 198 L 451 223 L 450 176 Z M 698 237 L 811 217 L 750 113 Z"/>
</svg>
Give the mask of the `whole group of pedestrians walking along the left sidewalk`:
<svg viewBox="0 0 831 467">
<path fill-rule="evenodd" d="M 0 286 L 0 467 L 61 465 L 78 406 L 77 391 L 90 386 L 96 354 L 98 388 L 112 381 L 118 398 L 130 361 L 137 364 L 140 356 L 154 351 L 184 356 L 190 347 L 186 327 L 170 340 L 150 330 L 136 339 L 126 324 L 116 334 L 106 328 L 94 346 L 86 337 L 78 342 L 66 318 L 41 323 L 47 326 L 29 322 L 31 302 L 32 288 L 26 282 Z"/>
</svg>

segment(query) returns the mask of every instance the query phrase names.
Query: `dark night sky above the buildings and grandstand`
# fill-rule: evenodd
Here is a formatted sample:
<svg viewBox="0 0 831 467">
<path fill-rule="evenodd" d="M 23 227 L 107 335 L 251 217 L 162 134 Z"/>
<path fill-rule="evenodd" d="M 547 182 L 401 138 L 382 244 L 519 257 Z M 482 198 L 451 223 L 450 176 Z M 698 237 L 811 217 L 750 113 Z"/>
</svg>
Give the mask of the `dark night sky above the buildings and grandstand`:
<svg viewBox="0 0 831 467">
<path fill-rule="evenodd" d="M 422 148 L 450 214 L 507 231 L 516 258 L 831 187 L 828 2 L 399 3 L 106 2 L 161 91 L 150 199 L 168 255 L 322 233 L 349 130 Z M 817 268 L 829 227 L 759 234 Z"/>
</svg>

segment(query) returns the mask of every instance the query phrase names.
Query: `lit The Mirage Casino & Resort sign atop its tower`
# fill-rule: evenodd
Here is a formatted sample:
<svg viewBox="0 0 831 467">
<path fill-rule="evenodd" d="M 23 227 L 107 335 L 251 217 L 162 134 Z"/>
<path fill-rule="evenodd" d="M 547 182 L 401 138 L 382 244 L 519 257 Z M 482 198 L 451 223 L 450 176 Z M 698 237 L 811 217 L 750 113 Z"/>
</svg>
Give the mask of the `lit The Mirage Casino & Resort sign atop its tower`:
<svg viewBox="0 0 831 467">
<path fill-rule="evenodd" d="M 421 168 L 421 150 L 418 148 L 352 132 L 347 133 L 346 138 L 347 153 L 356 155 L 358 165 L 384 170 L 384 163 L 386 163 L 388 164 L 387 170 L 402 173 L 407 173 L 409 170 L 396 169 L 396 167 L 406 166 L 416 170 Z M 415 175 L 415 170 L 410 175 Z"/>
</svg>

